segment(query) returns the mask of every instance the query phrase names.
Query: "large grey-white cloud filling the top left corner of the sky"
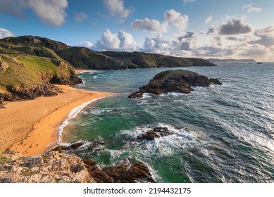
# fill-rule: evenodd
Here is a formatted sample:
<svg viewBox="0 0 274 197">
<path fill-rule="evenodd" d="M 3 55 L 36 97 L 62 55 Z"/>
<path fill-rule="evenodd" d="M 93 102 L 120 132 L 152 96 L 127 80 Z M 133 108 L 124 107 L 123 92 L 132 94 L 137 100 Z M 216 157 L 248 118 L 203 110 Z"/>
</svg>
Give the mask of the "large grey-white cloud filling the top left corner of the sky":
<svg viewBox="0 0 274 197">
<path fill-rule="evenodd" d="M 18 17 L 25 17 L 23 9 L 30 8 L 44 23 L 61 26 L 66 22 L 67 0 L 3 0 L 0 1 L 0 12 L 11 13 Z"/>
</svg>

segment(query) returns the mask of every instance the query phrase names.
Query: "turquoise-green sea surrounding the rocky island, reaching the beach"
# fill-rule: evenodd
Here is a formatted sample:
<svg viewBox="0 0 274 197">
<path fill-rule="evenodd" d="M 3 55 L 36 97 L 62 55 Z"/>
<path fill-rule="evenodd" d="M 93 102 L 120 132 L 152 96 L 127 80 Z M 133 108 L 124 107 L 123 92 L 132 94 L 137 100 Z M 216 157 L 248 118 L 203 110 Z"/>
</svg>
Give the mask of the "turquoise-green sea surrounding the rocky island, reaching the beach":
<svg viewBox="0 0 274 197">
<path fill-rule="evenodd" d="M 178 69 L 178 68 L 173 68 Z M 274 64 L 183 68 L 220 78 L 191 94 L 127 96 L 166 68 L 83 72 L 80 89 L 117 92 L 82 110 L 61 143 L 101 167 L 142 160 L 157 182 L 274 182 Z M 173 134 L 136 140 L 154 127 Z"/>
</svg>

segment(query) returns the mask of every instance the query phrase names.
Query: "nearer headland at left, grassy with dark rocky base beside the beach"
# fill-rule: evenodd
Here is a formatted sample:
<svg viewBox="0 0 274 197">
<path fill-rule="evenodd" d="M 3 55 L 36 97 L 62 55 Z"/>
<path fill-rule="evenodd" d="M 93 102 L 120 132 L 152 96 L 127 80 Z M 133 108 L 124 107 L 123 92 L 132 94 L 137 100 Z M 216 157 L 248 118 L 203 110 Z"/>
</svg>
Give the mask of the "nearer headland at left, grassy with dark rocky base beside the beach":
<svg viewBox="0 0 274 197">
<path fill-rule="evenodd" d="M 72 66 L 40 44 L 0 41 L 0 104 L 2 101 L 53 96 L 53 84 L 79 84 Z"/>
</svg>

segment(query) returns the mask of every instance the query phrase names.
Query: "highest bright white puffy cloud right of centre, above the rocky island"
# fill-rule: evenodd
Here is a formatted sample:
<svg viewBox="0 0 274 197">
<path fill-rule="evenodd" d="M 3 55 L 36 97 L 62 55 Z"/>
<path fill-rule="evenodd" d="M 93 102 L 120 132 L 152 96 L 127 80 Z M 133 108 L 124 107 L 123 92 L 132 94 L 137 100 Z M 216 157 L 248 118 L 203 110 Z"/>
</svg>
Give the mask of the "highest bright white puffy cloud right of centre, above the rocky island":
<svg viewBox="0 0 274 197">
<path fill-rule="evenodd" d="M 179 27 L 180 30 L 185 30 L 187 28 L 188 16 L 182 15 L 173 9 L 166 11 L 164 14 L 164 22 Z"/>
</svg>

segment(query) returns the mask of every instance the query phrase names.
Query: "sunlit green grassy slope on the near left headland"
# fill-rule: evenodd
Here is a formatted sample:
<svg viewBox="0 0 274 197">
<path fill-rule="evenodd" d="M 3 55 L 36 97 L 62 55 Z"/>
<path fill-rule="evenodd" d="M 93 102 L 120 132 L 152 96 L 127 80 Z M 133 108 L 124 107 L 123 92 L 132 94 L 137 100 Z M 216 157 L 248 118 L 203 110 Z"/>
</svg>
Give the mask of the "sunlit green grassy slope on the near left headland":
<svg viewBox="0 0 274 197">
<path fill-rule="evenodd" d="M 68 64 L 67 67 L 59 68 L 53 58 L 27 55 L 25 50 L 33 49 L 25 46 L 0 49 L 1 61 L 8 65 L 5 71 L 0 69 L 0 93 L 7 93 L 11 87 L 30 88 L 42 84 L 47 76 L 69 75 Z M 54 55 L 50 49 L 45 50 Z"/>
</svg>

